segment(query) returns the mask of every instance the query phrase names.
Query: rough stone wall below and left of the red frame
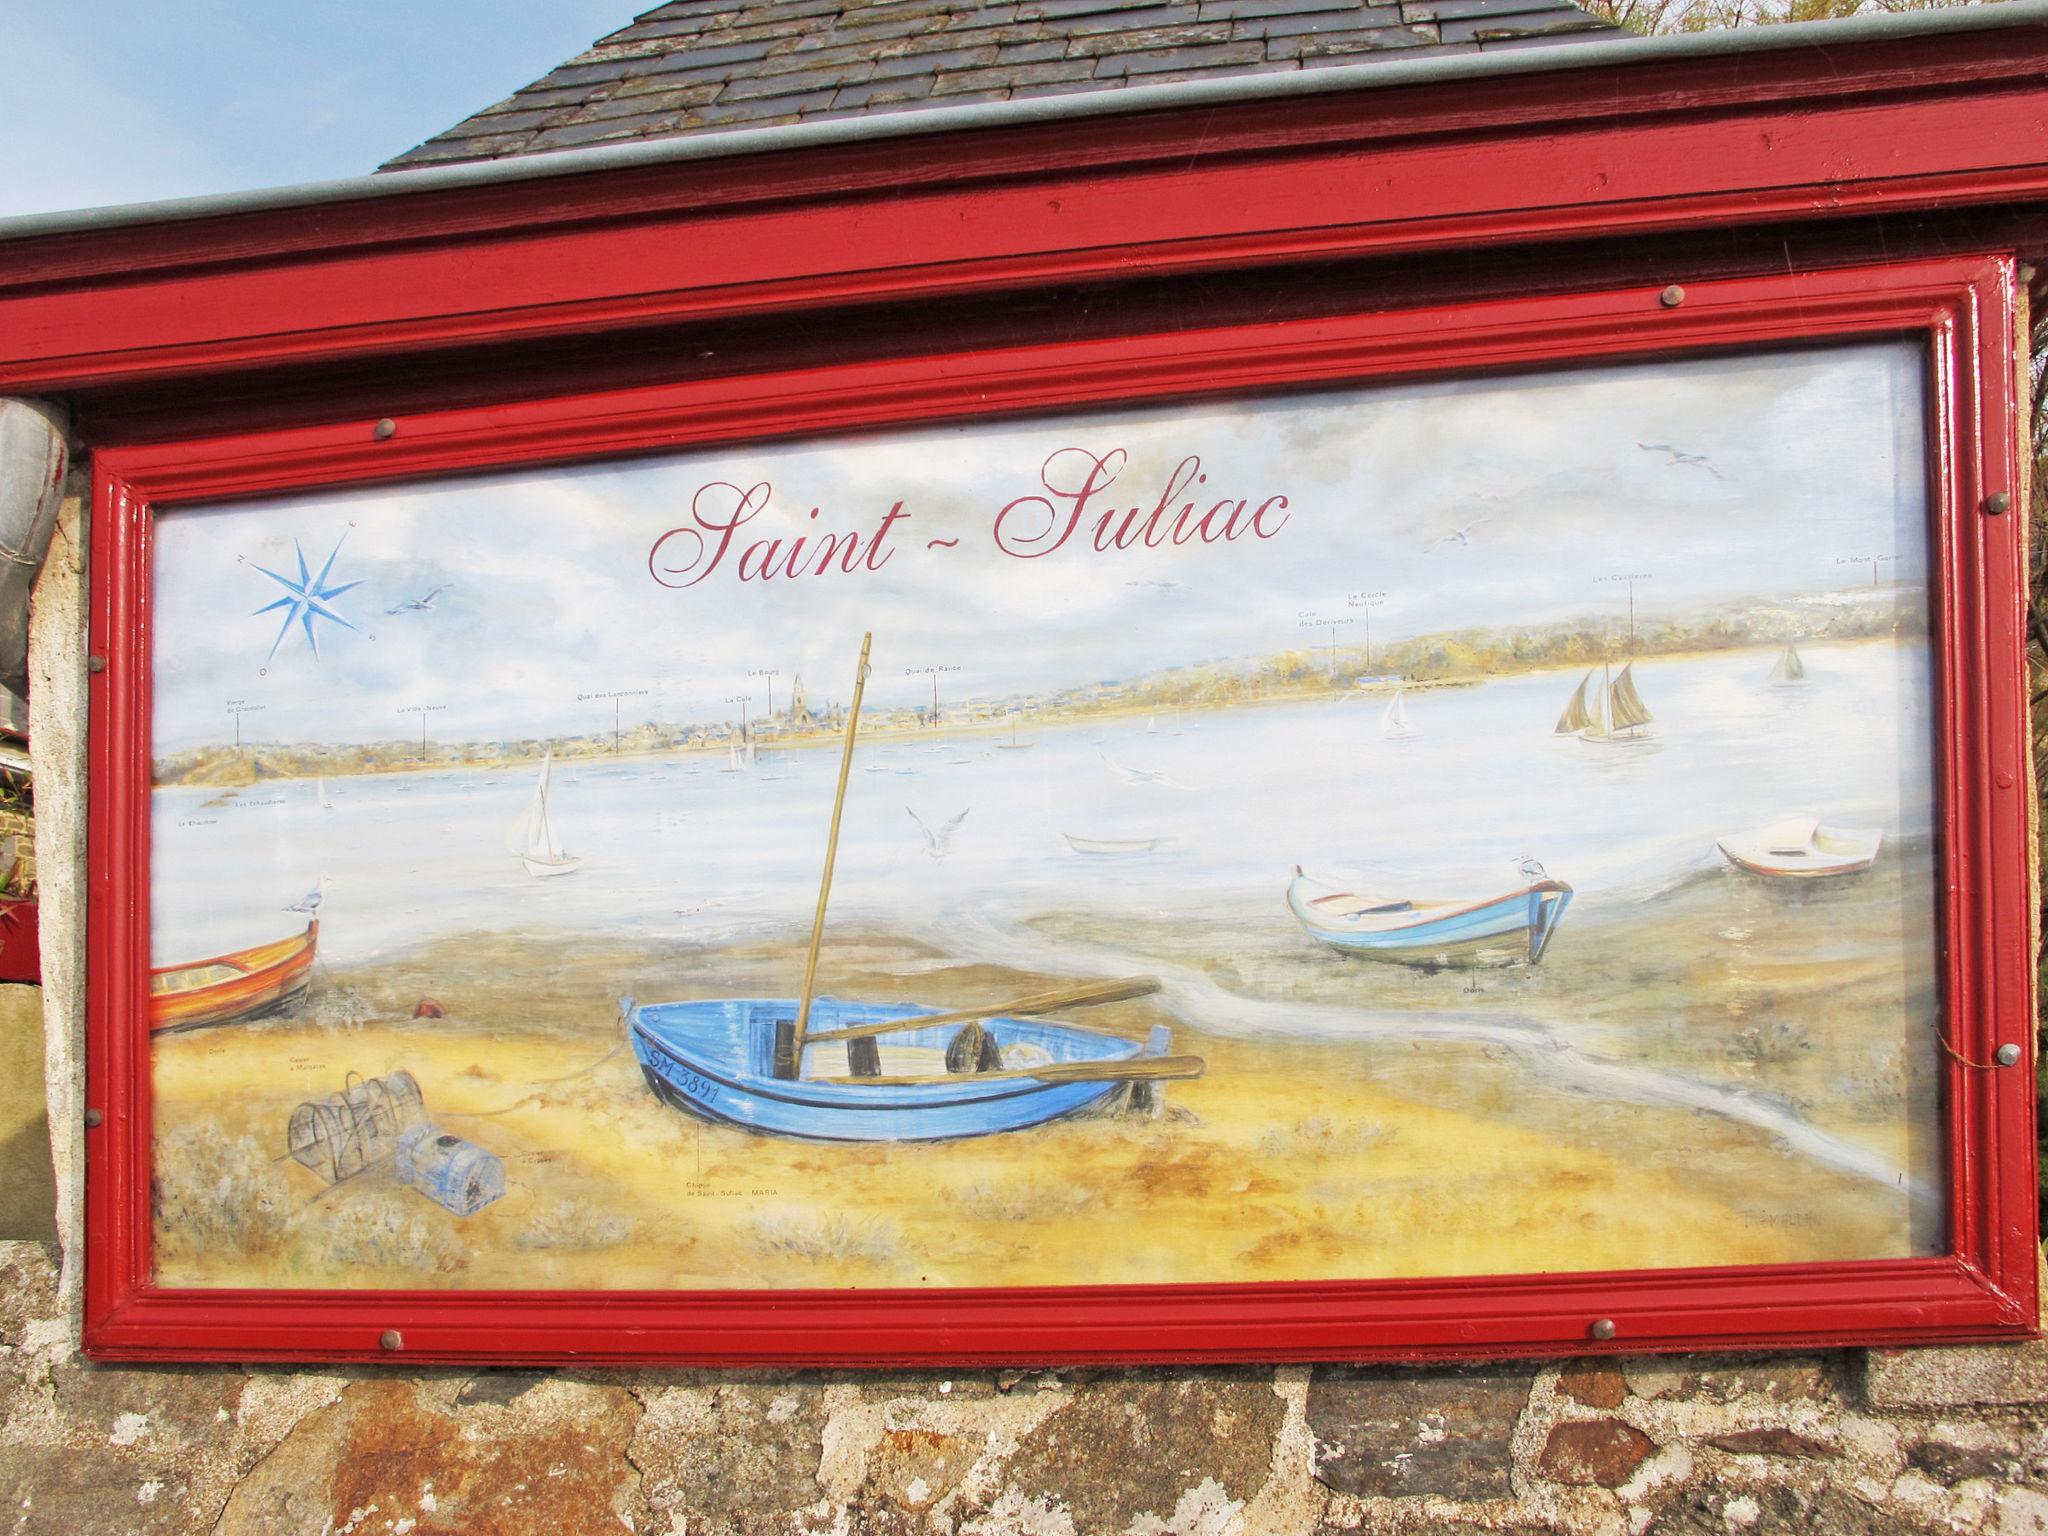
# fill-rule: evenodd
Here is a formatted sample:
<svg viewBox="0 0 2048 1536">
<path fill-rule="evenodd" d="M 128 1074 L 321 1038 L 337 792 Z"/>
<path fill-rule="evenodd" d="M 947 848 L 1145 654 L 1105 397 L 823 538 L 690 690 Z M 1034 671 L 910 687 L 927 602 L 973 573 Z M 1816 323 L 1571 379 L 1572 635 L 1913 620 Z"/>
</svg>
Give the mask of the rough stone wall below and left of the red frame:
<svg viewBox="0 0 2048 1536">
<path fill-rule="evenodd" d="M 2048 1346 L 1464 1368 L 96 1368 L 82 506 L 37 594 L 55 1229 L 0 1243 L 0 1530 L 2048 1536 Z M 66 1264 L 59 1266 L 59 1251 Z"/>
</svg>

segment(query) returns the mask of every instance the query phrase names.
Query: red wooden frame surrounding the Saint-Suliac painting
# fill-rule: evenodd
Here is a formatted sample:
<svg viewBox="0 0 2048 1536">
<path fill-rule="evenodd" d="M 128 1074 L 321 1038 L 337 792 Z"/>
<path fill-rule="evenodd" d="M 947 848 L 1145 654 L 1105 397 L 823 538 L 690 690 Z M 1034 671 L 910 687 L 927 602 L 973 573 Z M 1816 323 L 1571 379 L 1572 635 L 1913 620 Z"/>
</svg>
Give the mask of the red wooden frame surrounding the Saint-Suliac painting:
<svg viewBox="0 0 2048 1536">
<path fill-rule="evenodd" d="M 94 455 L 86 1352 L 154 1360 L 1139 1362 L 1913 1343 L 2038 1321 L 2017 266 L 2005 254 L 819 365 Z M 1929 358 L 1948 1253 L 1829 1266 L 887 1292 L 176 1290 L 150 1262 L 150 543 L 180 502 L 1090 401 L 1919 336 Z M 1939 1051 L 1929 1040 L 1927 1051 Z M 1593 1331 L 1595 1321 L 1612 1321 Z"/>
</svg>

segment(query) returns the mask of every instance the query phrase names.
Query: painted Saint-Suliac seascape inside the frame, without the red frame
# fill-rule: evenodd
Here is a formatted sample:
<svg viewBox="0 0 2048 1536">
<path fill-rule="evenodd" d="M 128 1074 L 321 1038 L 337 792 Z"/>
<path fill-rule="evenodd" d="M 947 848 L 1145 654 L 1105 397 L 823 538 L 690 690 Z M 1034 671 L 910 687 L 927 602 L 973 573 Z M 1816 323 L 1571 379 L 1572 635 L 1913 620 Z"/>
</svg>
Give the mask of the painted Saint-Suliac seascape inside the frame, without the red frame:
<svg viewBox="0 0 2048 1536">
<path fill-rule="evenodd" d="M 1923 373 L 166 514 L 160 1280 L 1942 1251 Z"/>
</svg>

